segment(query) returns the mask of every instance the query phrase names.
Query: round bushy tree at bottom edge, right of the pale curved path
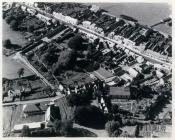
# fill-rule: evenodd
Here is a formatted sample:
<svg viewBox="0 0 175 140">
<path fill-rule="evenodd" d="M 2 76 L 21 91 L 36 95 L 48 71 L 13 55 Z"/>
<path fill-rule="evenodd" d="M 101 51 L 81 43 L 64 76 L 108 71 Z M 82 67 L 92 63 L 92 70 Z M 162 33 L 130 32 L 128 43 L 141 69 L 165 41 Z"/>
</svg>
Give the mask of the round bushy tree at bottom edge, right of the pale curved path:
<svg viewBox="0 0 175 140">
<path fill-rule="evenodd" d="M 109 136 L 112 135 L 112 133 L 114 133 L 115 130 L 119 129 L 120 127 L 120 123 L 117 121 L 108 121 L 105 124 L 105 130 L 109 133 Z"/>
</svg>

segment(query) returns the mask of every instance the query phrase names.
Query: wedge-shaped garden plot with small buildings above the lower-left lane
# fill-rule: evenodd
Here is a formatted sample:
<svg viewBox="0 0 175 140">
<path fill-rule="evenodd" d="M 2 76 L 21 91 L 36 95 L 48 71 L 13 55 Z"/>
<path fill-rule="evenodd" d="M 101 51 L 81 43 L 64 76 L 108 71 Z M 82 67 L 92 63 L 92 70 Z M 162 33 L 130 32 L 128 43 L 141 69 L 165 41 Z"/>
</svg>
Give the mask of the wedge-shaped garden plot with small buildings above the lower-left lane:
<svg viewBox="0 0 175 140">
<path fill-rule="evenodd" d="M 25 101 L 54 96 L 51 91 L 47 90 L 47 86 L 38 78 L 23 78 L 6 81 L 3 84 L 3 88 L 3 102 Z M 14 91 L 12 96 L 9 95 L 9 89 L 11 89 L 12 92 Z"/>
</svg>

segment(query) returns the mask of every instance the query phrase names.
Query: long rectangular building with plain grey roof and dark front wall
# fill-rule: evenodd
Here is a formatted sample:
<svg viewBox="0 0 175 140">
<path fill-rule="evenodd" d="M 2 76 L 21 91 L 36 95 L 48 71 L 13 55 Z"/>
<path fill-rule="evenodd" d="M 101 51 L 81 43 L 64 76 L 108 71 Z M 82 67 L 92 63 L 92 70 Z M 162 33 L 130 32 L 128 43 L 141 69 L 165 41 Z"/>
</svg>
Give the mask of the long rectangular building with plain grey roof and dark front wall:
<svg viewBox="0 0 175 140">
<path fill-rule="evenodd" d="M 131 94 L 128 87 L 110 87 L 109 95 L 112 99 L 129 99 Z"/>
</svg>

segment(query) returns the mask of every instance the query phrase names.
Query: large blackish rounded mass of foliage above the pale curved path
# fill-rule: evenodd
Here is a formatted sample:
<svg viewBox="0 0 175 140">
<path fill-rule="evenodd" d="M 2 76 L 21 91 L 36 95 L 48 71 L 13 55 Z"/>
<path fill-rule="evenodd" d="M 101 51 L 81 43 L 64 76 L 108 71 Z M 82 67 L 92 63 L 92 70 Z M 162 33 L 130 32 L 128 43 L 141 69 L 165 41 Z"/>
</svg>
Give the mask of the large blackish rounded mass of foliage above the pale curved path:
<svg viewBox="0 0 175 140">
<path fill-rule="evenodd" d="M 75 122 L 87 127 L 104 128 L 105 116 L 96 106 L 78 106 L 74 112 Z"/>
</svg>

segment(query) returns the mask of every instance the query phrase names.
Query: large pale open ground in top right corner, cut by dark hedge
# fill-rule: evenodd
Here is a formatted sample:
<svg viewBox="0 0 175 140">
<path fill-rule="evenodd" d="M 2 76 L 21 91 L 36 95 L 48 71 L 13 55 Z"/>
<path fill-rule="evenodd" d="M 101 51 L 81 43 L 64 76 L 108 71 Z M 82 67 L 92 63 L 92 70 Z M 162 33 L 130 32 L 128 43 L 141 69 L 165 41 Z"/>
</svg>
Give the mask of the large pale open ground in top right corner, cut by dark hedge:
<svg viewBox="0 0 175 140">
<path fill-rule="evenodd" d="M 137 19 L 139 23 L 148 26 L 172 15 L 172 8 L 167 3 L 96 3 L 95 5 L 117 17 L 122 14 L 128 15 Z M 164 24 L 156 26 L 155 29 L 166 34 L 172 32 L 171 27 Z"/>
</svg>

